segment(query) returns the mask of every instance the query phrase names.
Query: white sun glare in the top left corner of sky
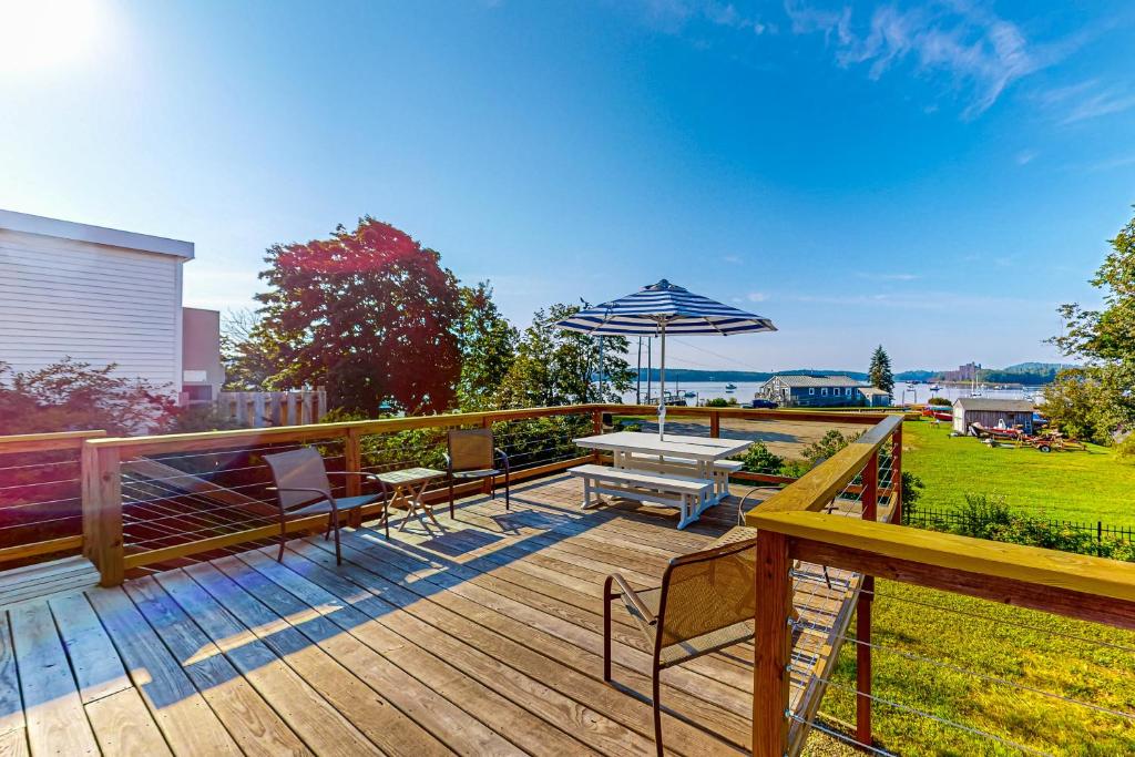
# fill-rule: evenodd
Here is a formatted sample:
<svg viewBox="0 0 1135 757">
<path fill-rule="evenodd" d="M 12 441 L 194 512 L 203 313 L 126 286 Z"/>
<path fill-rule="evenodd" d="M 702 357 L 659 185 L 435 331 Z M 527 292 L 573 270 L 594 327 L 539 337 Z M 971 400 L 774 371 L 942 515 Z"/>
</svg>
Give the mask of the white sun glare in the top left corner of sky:
<svg viewBox="0 0 1135 757">
<path fill-rule="evenodd" d="M 0 0 L 0 76 L 81 60 L 104 19 L 102 0 Z"/>
</svg>

